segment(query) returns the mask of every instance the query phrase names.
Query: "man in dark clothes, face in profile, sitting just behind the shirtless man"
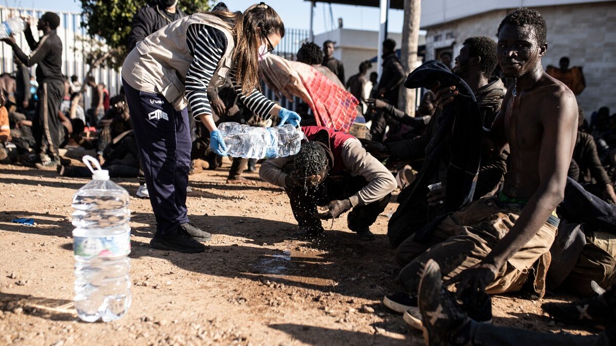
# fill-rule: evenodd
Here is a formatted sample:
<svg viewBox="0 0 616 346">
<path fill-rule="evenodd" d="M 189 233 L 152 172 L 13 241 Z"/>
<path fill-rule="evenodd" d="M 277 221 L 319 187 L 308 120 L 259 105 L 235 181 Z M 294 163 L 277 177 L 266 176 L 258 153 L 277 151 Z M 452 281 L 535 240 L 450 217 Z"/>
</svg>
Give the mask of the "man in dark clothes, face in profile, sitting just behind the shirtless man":
<svg viewBox="0 0 616 346">
<path fill-rule="evenodd" d="M 480 117 L 483 119 L 483 126 L 490 128 L 494 118 L 501 109 L 501 103 L 505 97 L 505 86 L 503 82 L 492 76 L 492 72 L 496 67 L 496 42 L 492 39 L 479 36 L 466 39 L 460 54 L 456 57 L 456 65 L 454 73 L 463 79 L 471 88 L 471 91 L 476 97 L 477 105 L 479 106 Z M 411 162 L 423 160 L 426 158 L 426 148 L 437 135 L 439 124 L 444 116 L 444 102 L 450 101 L 452 95 L 448 94 L 449 86 L 444 86 L 437 93 L 437 110 L 434 116 L 429 120 L 426 129 L 421 135 L 410 140 L 401 140 L 399 142 L 387 143 L 385 145 L 379 143 L 367 143 L 366 150 L 377 157 L 389 157 L 391 159 Z M 454 92 L 453 94 L 456 94 Z M 375 101 L 378 106 L 379 102 Z M 389 111 L 386 110 L 387 113 Z M 399 114 L 402 111 L 398 111 Z M 458 114 L 464 119 L 468 119 L 468 114 Z M 410 116 L 400 116 L 401 121 L 408 119 L 409 121 L 418 121 L 417 118 Z M 419 123 L 421 124 L 421 123 Z M 455 145 L 455 143 L 450 144 Z M 501 155 L 482 155 L 481 164 L 479 167 L 479 175 L 473 199 L 479 199 L 484 196 L 493 195 L 496 188 L 500 185 L 501 180 L 506 172 L 507 152 L 504 150 Z M 431 182 L 442 182 L 445 185 L 447 177 L 448 159 L 444 159 L 440 164 L 438 171 L 429 172 L 429 167 L 424 164 L 411 163 L 419 169 L 419 174 L 431 174 Z M 443 201 L 445 198 L 445 190 L 447 187 L 429 191 L 428 195 L 419 193 L 419 191 L 428 190 L 426 187 L 415 187 L 411 184 L 406 187 L 399 195 L 398 202 L 400 206 L 392 219 L 389 221 L 387 228 L 387 236 L 394 247 L 398 247 L 405 239 L 419 230 L 419 228 L 431 222 L 437 215 L 444 213 Z M 418 191 L 415 193 L 414 191 Z M 411 244 L 412 245 L 412 244 Z M 402 249 L 400 254 L 405 253 Z M 413 257 L 415 254 L 413 254 Z M 400 265 L 407 265 L 410 259 L 405 259 L 403 256 L 397 257 Z"/>
</svg>

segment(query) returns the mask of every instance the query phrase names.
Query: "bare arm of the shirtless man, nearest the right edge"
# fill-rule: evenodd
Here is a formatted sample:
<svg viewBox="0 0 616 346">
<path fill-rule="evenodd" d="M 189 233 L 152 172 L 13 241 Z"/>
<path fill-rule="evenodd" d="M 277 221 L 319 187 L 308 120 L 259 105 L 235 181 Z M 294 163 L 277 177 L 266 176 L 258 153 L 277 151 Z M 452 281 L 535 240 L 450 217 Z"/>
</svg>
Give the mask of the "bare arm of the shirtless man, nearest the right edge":
<svg viewBox="0 0 616 346">
<path fill-rule="evenodd" d="M 540 185 L 522 209 L 514 227 L 484 260 L 499 269 L 537 235 L 564 198 L 567 171 L 577 134 L 577 103 L 572 92 L 565 88 L 559 88 L 558 92 L 542 101 L 544 109 L 553 111 L 541 111 L 540 115 L 543 126 L 539 154 Z"/>
</svg>

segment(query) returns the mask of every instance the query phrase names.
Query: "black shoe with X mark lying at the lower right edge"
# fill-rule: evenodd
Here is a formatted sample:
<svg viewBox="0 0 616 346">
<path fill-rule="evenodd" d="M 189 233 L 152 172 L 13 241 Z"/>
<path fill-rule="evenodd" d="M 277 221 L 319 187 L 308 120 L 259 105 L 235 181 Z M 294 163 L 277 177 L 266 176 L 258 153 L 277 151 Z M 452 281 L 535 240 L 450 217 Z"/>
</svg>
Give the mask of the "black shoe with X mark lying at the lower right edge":
<svg viewBox="0 0 616 346">
<path fill-rule="evenodd" d="M 543 311 L 567 324 L 606 327 L 616 321 L 616 304 L 610 291 L 571 303 L 544 303 Z"/>
</svg>

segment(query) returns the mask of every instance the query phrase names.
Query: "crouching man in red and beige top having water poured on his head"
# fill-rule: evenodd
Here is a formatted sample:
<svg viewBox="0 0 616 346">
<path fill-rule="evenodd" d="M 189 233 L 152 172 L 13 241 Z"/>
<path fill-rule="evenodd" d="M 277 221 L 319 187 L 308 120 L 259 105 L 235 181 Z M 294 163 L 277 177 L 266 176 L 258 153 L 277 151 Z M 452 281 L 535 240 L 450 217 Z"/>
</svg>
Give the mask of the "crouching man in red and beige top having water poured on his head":
<svg viewBox="0 0 616 346">
<path fill-rule="evenodd" d="M 373 240 L 369 227 L 389 203 L 394 176 L 352 135 L 319 126 L 302 131 L 311 142 L 302 143 L 297 155 L 268 159 L 259 176 L 285 188 L 302 236 L 320 235 L 321 219 L 335 219 L 353 208 L 349 229 L 362 240 Z M 317 206 L 326 206 L 327 212 L 318 214 Z"/>
</svg>

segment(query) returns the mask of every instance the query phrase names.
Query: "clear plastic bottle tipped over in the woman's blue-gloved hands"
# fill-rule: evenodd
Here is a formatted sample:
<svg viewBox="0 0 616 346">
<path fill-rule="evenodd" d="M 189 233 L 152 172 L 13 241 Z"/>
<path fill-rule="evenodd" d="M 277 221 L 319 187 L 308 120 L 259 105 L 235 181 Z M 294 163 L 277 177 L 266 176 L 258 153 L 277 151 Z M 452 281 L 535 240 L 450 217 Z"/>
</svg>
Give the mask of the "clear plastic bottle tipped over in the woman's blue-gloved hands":
<svg viewBox="0 0 616 346">
<path fill-rule="evenodd" d="M 218 126 L 229 156 L 235 158 L 279 158 L 299 152 L 304 132 L 291 124 L 276 127 L 252 127 L 238 123 Z"/>
</svg>

